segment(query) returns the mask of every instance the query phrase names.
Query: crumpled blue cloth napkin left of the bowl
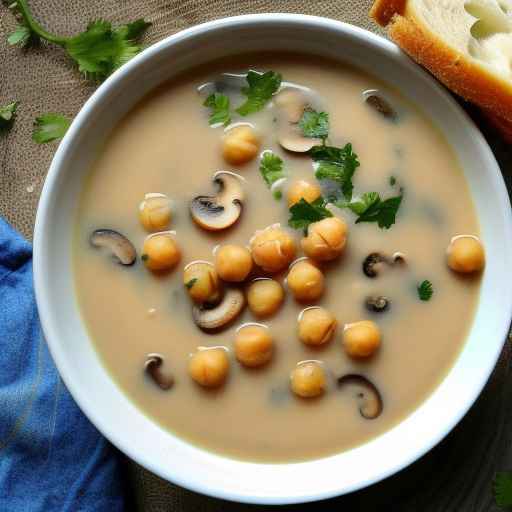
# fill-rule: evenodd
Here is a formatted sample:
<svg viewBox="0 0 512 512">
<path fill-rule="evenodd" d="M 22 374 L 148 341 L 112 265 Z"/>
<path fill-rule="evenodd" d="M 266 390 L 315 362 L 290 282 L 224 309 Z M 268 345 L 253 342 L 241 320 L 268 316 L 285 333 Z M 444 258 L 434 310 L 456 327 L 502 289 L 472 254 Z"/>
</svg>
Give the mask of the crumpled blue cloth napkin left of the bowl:
<svg viewBox="0 0 512 512">
<path fill-rule="evenodd" d="M 118 452 L 75 404 L 43 338 L 32 247 L 0 218 L 0 511 L 116 512 Z"/>
</svg>

